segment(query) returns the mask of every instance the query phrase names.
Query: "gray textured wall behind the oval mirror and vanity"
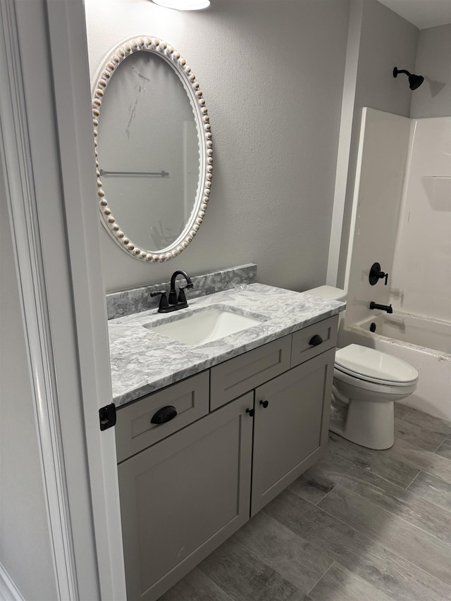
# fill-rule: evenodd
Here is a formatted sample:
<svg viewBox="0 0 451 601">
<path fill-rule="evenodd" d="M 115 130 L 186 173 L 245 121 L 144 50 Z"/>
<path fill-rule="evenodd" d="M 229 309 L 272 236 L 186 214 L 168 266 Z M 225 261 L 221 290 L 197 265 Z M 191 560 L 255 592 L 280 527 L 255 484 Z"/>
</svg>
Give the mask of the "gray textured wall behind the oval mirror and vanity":
<svg viewBox="0 0 451 601">
<path fill-rule="evenodd" d="M 348 1 L 216 0 L 199 13 L 130 0 L 85 6 L 92 75 L 127 37 L 166 39 L 197 75 L 214 137 L 211 202 L 194 242 L 168 264 L 143 264 L 101 228 L 106 290 L 249 261 L 264 283 L 324 283 Z"/>
</svg>

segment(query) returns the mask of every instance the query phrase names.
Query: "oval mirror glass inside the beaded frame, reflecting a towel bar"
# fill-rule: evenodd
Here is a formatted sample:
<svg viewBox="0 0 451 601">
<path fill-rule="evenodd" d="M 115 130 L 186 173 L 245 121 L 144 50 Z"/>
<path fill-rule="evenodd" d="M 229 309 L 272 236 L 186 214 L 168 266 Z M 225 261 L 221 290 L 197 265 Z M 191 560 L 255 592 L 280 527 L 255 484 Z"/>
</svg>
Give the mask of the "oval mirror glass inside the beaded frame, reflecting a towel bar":
<svg viewBox="0 0 451 601">
<path fill-rule="evenodd" d="M 173 244 L 196 199 L 199 143 L 187 90 L 163 58 L 136 52 L 118 66 L 102 102 L 97 149 L 121 228 L 145 249 Z"/>
</svg>

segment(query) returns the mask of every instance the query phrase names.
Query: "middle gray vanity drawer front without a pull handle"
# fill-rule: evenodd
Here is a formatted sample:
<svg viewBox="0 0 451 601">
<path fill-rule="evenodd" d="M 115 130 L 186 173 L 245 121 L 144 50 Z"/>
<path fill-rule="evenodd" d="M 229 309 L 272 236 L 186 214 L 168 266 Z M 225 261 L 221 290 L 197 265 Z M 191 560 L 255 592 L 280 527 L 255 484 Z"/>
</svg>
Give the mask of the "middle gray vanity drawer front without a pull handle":
<svg viewBox="0 0 451 601">
<path fill-rule="evenodd" d="M 210 411 L 290 368 L 291 335 L 211 368 Z"/>
</svg>

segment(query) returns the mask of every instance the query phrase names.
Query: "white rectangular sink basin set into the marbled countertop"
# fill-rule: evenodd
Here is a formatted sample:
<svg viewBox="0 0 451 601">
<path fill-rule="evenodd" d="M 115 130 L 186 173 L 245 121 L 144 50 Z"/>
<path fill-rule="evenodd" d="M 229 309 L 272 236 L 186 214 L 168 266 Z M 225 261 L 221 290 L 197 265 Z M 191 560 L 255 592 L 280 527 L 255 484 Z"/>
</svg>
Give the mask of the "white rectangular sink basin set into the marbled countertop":
<svg viewBox="0 0 451 601">
<path fill-rule="evenodd" d="M 258 319 L 227 309 L 210 309 L 187 317 L 181 316 L 176 321 L 162 323 L 159 326 L 146 324 L 144 327 L 173 340 L 185 342 L 186 345 L 199 347 L 206 345 L 207 342 L 252 328 L 264 321 L 266 321 L 265 317 Z"/>
</svg>

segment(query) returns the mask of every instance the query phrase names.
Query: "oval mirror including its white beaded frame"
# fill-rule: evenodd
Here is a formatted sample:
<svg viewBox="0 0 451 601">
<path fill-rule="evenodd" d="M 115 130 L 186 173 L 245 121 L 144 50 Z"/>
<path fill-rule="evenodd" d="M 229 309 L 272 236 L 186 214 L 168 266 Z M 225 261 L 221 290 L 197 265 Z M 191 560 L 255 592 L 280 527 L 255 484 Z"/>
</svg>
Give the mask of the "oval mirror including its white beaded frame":
<svg viewBox="0 0 451 601">
<path fill-rule="evenodd" d="M 180 52 L 154 37 L 114 48 L 92 98 L 101 221 L 128 254 L 168 261 L 199 230 L 213 157 L 205 100 Z"/>
</svg>

